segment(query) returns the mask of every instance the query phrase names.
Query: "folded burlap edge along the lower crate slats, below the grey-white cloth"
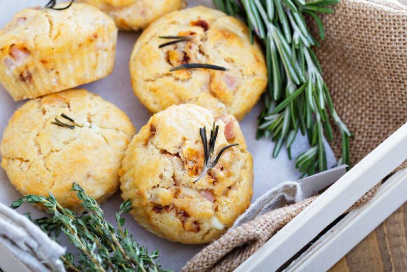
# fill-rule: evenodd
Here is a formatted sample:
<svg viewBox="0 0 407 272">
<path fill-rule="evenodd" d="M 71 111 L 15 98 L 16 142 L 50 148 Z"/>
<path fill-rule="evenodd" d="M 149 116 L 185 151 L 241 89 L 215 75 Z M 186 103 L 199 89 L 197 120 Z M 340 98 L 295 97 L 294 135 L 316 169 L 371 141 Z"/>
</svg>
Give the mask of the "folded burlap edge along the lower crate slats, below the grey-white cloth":
<svg viewBox="0 0 407 272">
<path fill-rule="evenodd" d="M 367 203 L 377 192 L 380 183 L 374 185 L 346 212 Z M 317 196 L 285 206 L 229 230 L 219 239 L 195 255 L 183 268 L 190 271 L 231 271 L 261 248 L 274 234 L 311 204 Z"/>
</svg>

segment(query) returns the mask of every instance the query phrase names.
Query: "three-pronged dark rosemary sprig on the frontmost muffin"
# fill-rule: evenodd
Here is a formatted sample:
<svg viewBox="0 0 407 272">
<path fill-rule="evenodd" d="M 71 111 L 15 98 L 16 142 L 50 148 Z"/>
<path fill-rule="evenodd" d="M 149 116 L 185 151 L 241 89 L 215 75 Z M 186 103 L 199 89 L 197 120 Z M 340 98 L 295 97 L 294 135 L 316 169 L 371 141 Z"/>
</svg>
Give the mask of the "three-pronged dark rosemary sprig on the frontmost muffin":
<svg viewBox="0 0 407 272">
<path fill-rule="evenodd" d="M 219 126 L 217 125 L 215 127 L 215 122 L 213 122 L 213 127 L 211 129 L 211 137 L 208 143 L 207 128 L 205 126 L 199 128 L 200 139 L 202 140 L 203 145 L 203 169 L 199 177 L 194 181 L 194 183 L 197 182 L 201 177 L 203 177 L 203 175 L 205 175 L 209 169 L 214 168 L 216 166 L 220 156 L 226 149 L 239 145 L 238 143 L 235 143 L 223 147 L 216 155 L 215 159 L 212 159 L 213 152 L 215 151 L 215 142 L 216 138 L 218 137 L 218 131 Z"/>
</svg>

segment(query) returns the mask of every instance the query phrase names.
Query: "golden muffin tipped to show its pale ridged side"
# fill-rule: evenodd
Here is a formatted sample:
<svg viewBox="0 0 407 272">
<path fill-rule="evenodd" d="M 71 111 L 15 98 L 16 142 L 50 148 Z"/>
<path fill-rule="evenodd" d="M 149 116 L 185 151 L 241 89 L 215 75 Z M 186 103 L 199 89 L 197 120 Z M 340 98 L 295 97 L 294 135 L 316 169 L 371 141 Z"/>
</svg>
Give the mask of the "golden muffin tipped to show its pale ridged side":
<svg viewBox="0 0 407 272">
<path fill-rule="evenodd" d="M 90 83 L 113 71 L 116 41 L 113 20 L 90 5 L 24 9 L 0 31 L 0 83 L 14 100 Z"/>
</svg>

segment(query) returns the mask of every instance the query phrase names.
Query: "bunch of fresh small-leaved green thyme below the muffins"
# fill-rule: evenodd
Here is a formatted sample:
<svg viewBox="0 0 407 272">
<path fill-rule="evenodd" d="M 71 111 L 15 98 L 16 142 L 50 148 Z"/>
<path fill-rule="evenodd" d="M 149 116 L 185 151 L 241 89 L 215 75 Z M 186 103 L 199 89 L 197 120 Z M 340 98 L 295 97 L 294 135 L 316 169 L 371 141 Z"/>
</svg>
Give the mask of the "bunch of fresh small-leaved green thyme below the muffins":
<svg viewBox="0 0 407 272">
<path fill-rule="evenodd" d="M 80 251 L 75 264 L 74 256 L 67 253 L 61 257 L 67 269 L 74 271 L 164 271 L 159 262 L 156 262 L 158 251 L 151 254 L 140 246 L 129 235 L 127 229 L 123 229 L 125 219 L 122 213 L 129 212 L 130 200 L 120 205 L 116 213 L 118 225 L 115 231 L 113 226 L 106 222 L 104 212 L 99 204 L 76 183 L 72 185 L 72 191 L 82 201 L 84 212 L 76 215 L 73 211 L 64 208 L 50 193 L 49 197 L 26 195 L 11 204 L 13 209 L 22 203 L 39 203 L 47 208 L 51 217 L 42 217 L 34 222 L 53 239 L 60 231 L 68 237 L 69 241 Z M 31 214 L 25 213 L 31 220 Z"/>
</svg>

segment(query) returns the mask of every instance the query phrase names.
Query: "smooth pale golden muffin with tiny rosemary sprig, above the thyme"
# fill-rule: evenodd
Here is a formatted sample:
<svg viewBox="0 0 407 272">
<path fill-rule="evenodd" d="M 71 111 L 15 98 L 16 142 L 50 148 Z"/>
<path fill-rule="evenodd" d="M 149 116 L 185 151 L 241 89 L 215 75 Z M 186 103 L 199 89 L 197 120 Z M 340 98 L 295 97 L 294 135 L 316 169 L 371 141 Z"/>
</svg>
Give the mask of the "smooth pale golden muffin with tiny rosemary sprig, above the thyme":
<svg viewBox="0 0 407 272">
<path fill-rule="evenodd" d="M 2 167 L 22 195 L 51 192 L 76 210 L 73 182 L 99 203 L 118 189 L 134 133 L 124 112 L 93 93 L 49 94 L 26 102 L 10 119 L 0 146 Z"/>
</svg>

